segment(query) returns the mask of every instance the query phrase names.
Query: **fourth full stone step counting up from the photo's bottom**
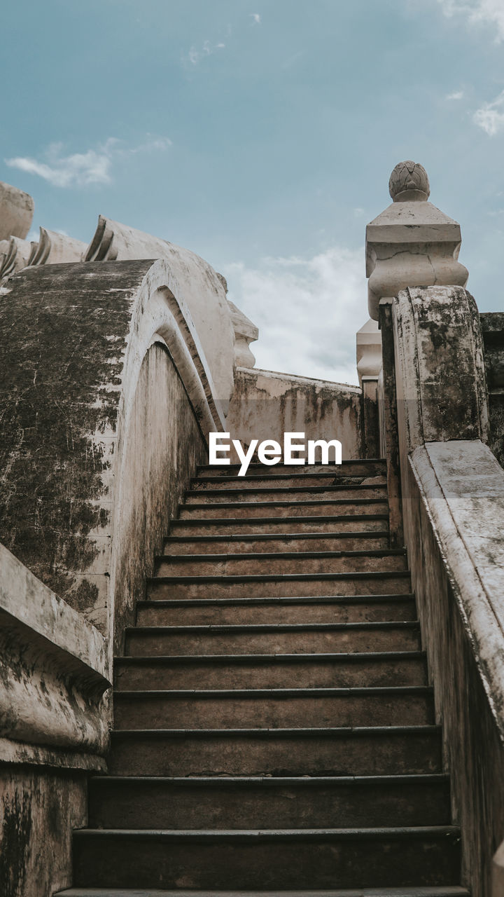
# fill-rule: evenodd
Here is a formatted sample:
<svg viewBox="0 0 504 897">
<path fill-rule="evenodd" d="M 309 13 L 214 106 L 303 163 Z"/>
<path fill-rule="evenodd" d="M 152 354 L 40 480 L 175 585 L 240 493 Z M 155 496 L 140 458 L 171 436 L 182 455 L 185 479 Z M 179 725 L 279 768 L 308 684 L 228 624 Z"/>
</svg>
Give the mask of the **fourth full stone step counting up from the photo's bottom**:
<svg viewBox="0 0 504 897">
<path fill-rule="evenodd" d="M 392 688 L 114 692 L 115 727 L 430 726 L 432 691 Z"/>
</svg>

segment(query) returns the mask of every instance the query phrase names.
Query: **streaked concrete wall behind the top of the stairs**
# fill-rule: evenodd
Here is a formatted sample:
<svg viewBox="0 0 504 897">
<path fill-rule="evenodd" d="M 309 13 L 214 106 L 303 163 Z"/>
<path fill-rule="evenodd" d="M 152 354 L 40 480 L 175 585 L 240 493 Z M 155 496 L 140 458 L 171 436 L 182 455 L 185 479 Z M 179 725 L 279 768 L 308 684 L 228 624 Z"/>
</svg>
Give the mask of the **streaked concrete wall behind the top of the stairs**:
<svg viewBox="0 0 504 897">
<path fill-rule="evenodd" d="M 284 432 L 304 432 L 307 440 L 340 440 L 343 460 L 362 457 L 362 391 L 294 374 L 238 368 L 226 431 L 247 446 L 253 439 L 282 445 Z"/>
</svg>

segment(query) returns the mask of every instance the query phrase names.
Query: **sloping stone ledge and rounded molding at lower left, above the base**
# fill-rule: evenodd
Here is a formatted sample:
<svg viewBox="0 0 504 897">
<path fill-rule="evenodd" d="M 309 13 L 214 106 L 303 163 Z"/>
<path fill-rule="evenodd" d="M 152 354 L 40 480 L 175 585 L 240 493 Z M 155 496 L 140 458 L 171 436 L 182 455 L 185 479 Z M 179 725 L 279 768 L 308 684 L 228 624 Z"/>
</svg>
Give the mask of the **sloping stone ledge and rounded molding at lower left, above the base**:
<svg viewBox="0 0 504 897">
<path fill-rule="evenodd" d="M 102 768 L 105 640 L 1 544 L 0 570 L 0 760 Z"/>
</svg>

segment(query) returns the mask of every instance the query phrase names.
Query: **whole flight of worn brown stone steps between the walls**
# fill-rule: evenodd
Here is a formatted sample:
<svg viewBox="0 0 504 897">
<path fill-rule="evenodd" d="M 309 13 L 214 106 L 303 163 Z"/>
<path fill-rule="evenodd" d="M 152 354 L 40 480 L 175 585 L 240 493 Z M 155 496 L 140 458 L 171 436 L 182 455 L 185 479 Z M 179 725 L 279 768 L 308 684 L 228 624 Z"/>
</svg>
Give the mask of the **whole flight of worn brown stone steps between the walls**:
<svg viewBox="0 0 504 897">
<path fill-rule="evenodd" d="M 199 470 L 116 661 L 66 897 L 467 895 L 384 473 Z"/>
</svg>

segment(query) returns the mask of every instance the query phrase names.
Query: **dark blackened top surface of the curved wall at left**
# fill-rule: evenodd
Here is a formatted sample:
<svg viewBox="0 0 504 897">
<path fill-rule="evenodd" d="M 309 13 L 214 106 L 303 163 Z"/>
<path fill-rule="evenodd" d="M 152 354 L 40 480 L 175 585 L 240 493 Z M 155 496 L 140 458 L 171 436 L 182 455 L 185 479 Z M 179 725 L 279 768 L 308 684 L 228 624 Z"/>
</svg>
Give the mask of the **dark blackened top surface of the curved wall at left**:
<svg viewBox="0 0 504 897">
<path fill-rule="evenodd" d="M 91 435 L 114 431 L 132 296 L 151 261 L 27 268 L 0 297 L 3 542 L 83 609 L 73 570 L 96 554 L 109 460 Z M 73 594 L 75 592 L 75 594 Z"/>
</svg>

